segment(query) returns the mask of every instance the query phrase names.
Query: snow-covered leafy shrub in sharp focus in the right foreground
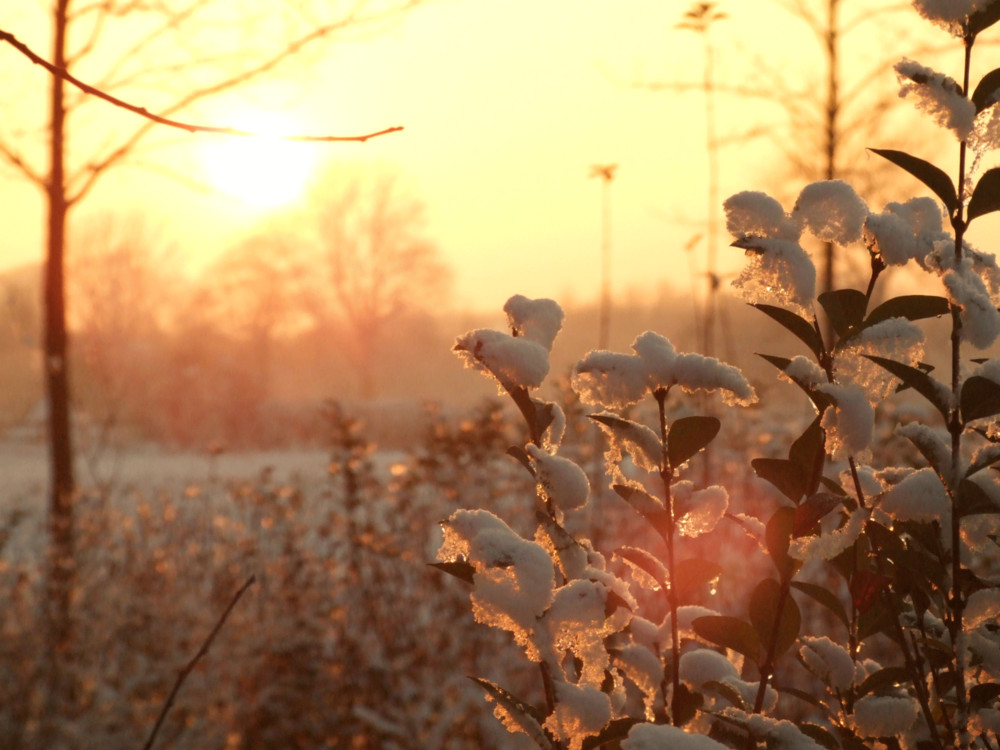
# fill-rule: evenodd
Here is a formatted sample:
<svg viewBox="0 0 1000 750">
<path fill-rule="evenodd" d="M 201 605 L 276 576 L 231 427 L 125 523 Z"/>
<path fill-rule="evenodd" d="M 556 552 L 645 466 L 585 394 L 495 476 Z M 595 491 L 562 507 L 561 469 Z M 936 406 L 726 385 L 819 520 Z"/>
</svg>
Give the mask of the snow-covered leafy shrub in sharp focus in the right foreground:
<svg viewBox="0 0 1000 750">
<path fill-rule="evenodd" d="M 973 44 L 1000 21 L 1000 0 L 915 5 L 963 41 L 958 80 L 968 82 Z M 558 307 L 515 297 L 510 333 L 458 339 L 467 364 L 524 417 L 526 441 L 507 452 L 536 486 L 533 533 L 514 532 L 496 509 L 463 510 L 443 522 L 439 550 L 438 567 L 471 586 L 476 619 L 510 633 L 537 665 L 541 700 L 478 680 L 511 733 L 559 750 L 1000 744 L 1000 369 L 965 359 L 968 345 L 1000 336 L 996 260 L 965 239 L 970 222 L 1000 211 L 1000 168 L 976 179 L 967 159 L 1000 141 L 1000 71 L 974 91 L 912 61 L 896 71 L 901 96 L 958 138 L 958 187 L 919 157 L 875 153 L 940 204 L 920 197 L 873 211 L 840 181 L 806 186 L 790 211 L 752 191 L 725 204 L 733 245 L 749 258 L 735 286 L 808 352 L 762 355 L 814 413 L 787 457 L 746 457 L 774 490 L 763 512 L 748 512 L 724 476 L 698 484 L 690 466 L 722 421 L 694 413 L 705 402 L 689 394 L 746 406 L 754 387 L 646 332 L 632 352 L 587 354 L 571 378 L 607 438 L 602 483 L 654 532 L 649 543 L 596 548 L 570 531 L 586 475 L 561 438 L 577 430 L 538 396 Z M 866 254 L 866 287 L 817 296 L 804 233 Z M 873 304 L 882 273 L 910 262 L 936 293 Z M 921 321 L 945 316 L 950 372 L 939 379 L 921 359 Z M 897 398 L 907 406 L 889 408 Z M 733 528 L 752 540 L 740 555 L 769 561 L 763 577 L 728 553 Z M 741 595 L 713 600 L 723 587 Z"/>
</svg>

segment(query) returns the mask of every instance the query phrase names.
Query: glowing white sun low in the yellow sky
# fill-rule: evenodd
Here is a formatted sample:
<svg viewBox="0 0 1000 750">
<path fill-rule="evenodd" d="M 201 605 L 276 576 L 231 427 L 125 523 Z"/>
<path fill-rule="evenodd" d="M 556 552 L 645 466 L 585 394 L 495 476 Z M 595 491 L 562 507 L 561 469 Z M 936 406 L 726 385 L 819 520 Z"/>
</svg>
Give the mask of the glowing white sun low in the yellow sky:
<svg viewBox="0 0 1000 750">
<path fill-rule="evenodd" d="M 288 205 L 301 197 L 315 155 L 311 144 L 281 137 L 301 133 L 295 123 L 277 113 L 248 112 L 233 126 L 261 137 L 213 139 L 203 154 L 212 187 L 258 208 Z"/>
</svg>

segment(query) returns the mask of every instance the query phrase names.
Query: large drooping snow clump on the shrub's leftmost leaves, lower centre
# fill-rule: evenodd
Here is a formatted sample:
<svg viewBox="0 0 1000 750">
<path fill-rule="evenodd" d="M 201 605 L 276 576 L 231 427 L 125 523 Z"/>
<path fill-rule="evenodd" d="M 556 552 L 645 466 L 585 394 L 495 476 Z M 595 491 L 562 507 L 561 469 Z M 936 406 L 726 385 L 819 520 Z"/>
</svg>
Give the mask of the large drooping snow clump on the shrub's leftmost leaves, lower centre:
<svg viewBox="0 0 1000 750">
<path fill-rule="evenodd" d="M 466 561 L 475 570 L 471 597 L 476 620 L 509 630 L 537 661 L 530 635 L 554 596 L 555 568 L 548 552 L 485 510 L 456 511 L 442 528 L 438 559 Z"/>
</svg>

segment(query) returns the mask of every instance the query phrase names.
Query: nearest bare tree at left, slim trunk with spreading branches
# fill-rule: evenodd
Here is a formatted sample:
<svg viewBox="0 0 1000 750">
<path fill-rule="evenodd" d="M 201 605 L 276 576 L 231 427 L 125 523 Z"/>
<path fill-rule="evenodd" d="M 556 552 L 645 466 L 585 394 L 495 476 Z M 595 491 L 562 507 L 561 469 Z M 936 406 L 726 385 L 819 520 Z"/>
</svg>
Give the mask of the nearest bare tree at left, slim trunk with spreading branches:
<svg viewBox="0 0 1000 750">
<path fill-rule="evenodd" d="M 66 280 L 68 217 L 96 182 L 126 162 L 157 123 L 197 103 L 279 73 L 291 60 L 320 48 L 331 37 L 372 30 L 418 0 L 286 1 L 261 11 L 230 0 L 141 2 L 54 0 L 50 10 L 51 56 L 42 60 L 8 32 L 13 45 L 54 75 L 45 125 L 47 157 L 35 160 L 6 121 L 0 124 L 0 158 L 45 194 L 47 206 L 44 305 L 44 378 L 48 400 L 51 489 L 47 627 L 49 667 L 47 716 L 58 716 L 72 692 L 73 502 L 76 491 L 70 429 Z M 93 85 L 71 71 L 86 68 Z M 94 73 L 93 71 L 103 71 Z M 76 89 L 70 89 L 76 86 Z M 79 89 L 79 90 L 77 90 Z M 127 106 L 139 124 L 108 132 L 91 143 L 71 135 L 86 132 L 96 98 L 123 105 L 119 97 L 152 97 L 148 108 Z M 97 106 L 107 104 L 98 102 Z M 153 115 L 155 111 L 157 114 Z M 197 130 L 191 126 L 187 130 Z M 208 128 L 218 130 L 219 128 Z M 222 130 L 227 130 L 222 128 Z M 24 144 L 30 147 L 30 144 Z M 71 158 L 72 157 L 72 158 Z"/>
</svg>

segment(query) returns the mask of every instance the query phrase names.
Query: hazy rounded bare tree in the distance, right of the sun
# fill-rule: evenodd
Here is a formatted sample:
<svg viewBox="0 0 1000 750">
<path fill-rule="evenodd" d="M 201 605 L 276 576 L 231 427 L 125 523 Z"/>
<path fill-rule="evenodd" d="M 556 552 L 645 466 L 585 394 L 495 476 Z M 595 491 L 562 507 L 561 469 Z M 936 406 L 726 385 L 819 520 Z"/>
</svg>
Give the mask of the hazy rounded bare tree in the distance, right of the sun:
<svg viewBox="0 0 1000 750">
<path fill-rule="evenodd" d="M 450 274 L 424 236 L 424 207 L 392 174 L 324 189 L 317 223 L 321 263 L 352 344 L 364 398 L 377 391 L 376 359 L 386 327 L 442 305 Z"/>
</svg>

